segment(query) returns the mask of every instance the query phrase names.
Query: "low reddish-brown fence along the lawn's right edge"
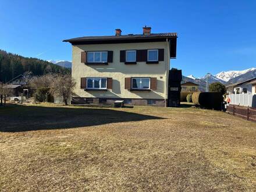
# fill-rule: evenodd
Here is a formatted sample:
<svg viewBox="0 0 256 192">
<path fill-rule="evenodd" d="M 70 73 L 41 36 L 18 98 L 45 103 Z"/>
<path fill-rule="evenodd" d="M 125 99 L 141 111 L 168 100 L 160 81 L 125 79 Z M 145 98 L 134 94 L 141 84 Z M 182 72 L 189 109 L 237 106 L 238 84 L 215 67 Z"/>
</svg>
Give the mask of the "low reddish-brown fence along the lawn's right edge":
<svg viewBox="0 0 256 192">
<path fill-rule="evenodd" d="M 229 105 L 227 106 L 227 112 L 234 116 L 239 116 L 240 118 L 256 122 L 256 108 Z"/>
</svg>

